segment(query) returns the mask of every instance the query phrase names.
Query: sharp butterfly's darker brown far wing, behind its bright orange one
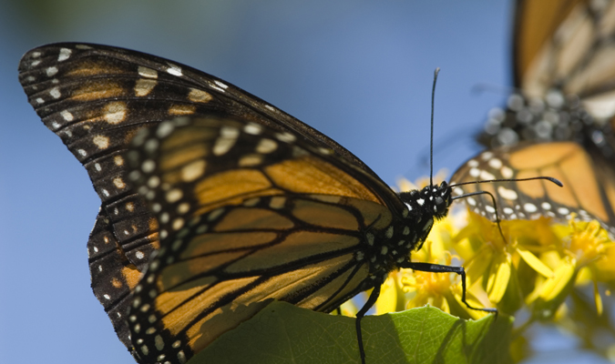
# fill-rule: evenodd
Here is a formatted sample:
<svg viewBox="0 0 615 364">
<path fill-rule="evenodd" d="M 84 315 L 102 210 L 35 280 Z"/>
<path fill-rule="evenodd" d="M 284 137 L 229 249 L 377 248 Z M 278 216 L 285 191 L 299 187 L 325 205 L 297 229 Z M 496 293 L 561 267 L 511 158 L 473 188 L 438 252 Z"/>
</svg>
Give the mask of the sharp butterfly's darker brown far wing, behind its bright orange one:
<svg viewBox="0 0 615 364">
<path fill-rule="evenodd" d="M 105 45 L 43 45 L 22 58 L 19 80 L 38 116 L 86 167 L 102 201 L 87 242 L 92 288 L 128 349 L 123 313 L 159 248 L 159 222 L 127 179 L 128 143 L 141 128 L 174 116 L 236 116 L 332 150 L 384 186 L 360 159 L 311 126 L 164 58 Z"/>
</svg>

